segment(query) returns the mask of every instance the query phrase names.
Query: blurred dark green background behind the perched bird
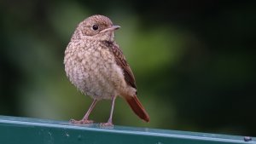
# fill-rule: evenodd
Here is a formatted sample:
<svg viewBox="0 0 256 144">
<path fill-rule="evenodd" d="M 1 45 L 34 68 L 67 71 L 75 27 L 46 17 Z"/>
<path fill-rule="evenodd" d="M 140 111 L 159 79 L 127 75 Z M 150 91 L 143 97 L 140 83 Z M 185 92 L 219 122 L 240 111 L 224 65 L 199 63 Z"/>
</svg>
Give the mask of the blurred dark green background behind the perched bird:
<svg viewBox="0 0 256 144">
<path fill-rule="evenodd" d="M 255 1 L 0 1 L 0 114 L 69 120 L 92 101 L 67 80 L 63 56 L 80 21 L 107 15 L 150 115 L 119 98 L 113 122 L 256 135 Z M 110 101 L 90 118 L 108 120 Z"/>
</svg>

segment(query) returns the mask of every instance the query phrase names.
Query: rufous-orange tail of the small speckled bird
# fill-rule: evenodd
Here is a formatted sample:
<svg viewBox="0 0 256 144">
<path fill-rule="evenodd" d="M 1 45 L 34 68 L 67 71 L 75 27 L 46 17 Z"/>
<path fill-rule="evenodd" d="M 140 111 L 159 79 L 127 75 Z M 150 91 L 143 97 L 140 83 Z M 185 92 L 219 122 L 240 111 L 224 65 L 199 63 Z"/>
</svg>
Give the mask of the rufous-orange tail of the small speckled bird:
<svg viewBox="0 0 256 144">
<path fill-rule="evenodd" d="M 135 112 L 139 118 L 142 118 L 146 122 L 149 122 L 148 113 L 144 109 L 142 103 L 137 99 L 137 95 L 125 96 L 125 100 L 128 102 L 132 111 Z"/>
</svg>

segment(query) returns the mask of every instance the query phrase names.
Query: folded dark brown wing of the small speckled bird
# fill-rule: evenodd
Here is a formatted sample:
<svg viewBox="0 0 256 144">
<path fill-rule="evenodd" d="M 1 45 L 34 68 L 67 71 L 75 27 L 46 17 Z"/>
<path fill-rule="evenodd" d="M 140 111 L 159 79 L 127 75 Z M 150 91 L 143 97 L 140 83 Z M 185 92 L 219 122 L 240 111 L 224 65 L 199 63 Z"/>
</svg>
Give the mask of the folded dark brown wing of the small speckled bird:
<svg viewBox="0 0 256 144">
<path fill-rule="evenodd" d="M 126 84 L 131 85 L 131 87 L 137 89 L 135 78 L 131 71 L 131 67 L 128 65 L 128 63 L 125 59 L 125 55 L 123 55 L 122 50 L 119 49 L 119 45 L 117 43 L 113 43 L 113 44 L 111 44 L 110 49 L 114 55 L 117 65 L 120 66 L 120 68 L 124 72 Z"/>
</svg>

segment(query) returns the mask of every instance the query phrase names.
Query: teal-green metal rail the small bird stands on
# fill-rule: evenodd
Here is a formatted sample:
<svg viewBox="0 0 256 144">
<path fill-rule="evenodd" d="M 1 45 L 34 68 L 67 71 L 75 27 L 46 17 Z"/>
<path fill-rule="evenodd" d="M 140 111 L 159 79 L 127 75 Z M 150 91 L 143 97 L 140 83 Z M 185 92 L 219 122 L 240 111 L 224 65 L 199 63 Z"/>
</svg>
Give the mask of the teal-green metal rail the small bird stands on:
<svg viewBox="0 0 256 144">
<path fill-rule="evenodd" d="M 99 124 L 0 116 L 0 144 L 235 144 L 255 143 L 255 137 L 215 135 Z"/>
</svg>

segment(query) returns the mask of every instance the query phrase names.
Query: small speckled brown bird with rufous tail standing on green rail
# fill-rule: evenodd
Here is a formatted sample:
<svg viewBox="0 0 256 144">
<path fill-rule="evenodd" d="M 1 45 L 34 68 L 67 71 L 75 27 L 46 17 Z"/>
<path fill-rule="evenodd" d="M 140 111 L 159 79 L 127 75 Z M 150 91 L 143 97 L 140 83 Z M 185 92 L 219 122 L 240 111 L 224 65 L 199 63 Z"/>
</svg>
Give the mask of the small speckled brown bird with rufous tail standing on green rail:
<svg viewBox="0 0 256 144">
<path fill-rule="evenodd" d="M 120 26 L 104 15 L 95 14 L 81 21 L 67 44 L 64 65 L 67 78 L 84 95 L 93 101 L 81 120 L 71 119 L 73 124 L 92 124 L 90 112 L 101 100 L 111 100 L 107 123 L 113 126 L 113 108 L 117 96 L 127 101 L 132 111 L 149 122 L 148 112 L 137 98 L 137 85 L 131 67 L 118 43 L 114 32 Z"/>
</svg>

